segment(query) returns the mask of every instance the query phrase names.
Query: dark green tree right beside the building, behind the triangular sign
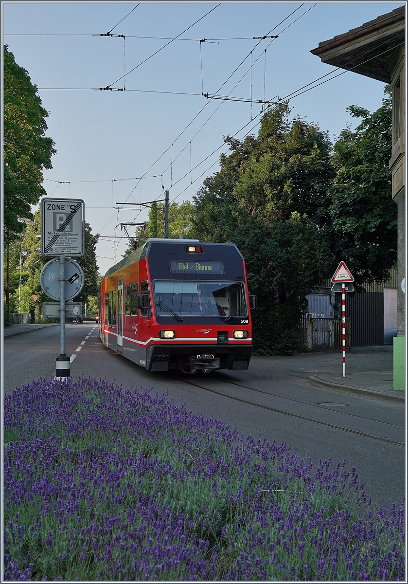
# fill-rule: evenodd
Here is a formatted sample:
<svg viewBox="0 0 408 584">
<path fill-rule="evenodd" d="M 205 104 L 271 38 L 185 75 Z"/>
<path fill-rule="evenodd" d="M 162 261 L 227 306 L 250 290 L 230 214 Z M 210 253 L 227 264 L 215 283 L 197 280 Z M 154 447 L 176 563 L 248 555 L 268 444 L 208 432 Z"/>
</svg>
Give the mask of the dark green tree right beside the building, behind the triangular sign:
<svg viewBox="0 0 408 584">
<path fill-rule="evenodd" d="M 333 229 L 332 250 L 344 260 L 358 284 L 389 277 L 397 258 L 397 206 L 392 200 L 388 162 L 391 156 L 391 98 L 386 86 L 382 106 L 374 113 L 350 106 L 361 118 L 346 128 L 334 144 L 337 174 L 329 194 Z"/>
</svg>

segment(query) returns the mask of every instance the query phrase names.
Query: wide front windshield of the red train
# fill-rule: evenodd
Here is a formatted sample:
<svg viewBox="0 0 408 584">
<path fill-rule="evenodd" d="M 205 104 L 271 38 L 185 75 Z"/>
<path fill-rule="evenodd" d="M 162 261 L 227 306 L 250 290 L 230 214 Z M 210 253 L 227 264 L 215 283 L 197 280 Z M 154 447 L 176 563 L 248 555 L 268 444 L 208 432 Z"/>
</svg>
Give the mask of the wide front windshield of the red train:
<svg viewBox="0 0 408 584">
<path fill-rule="evenodd" d="M 155 311 L 168 317 L 237 316 L 248 314 L 241 282 L 175 281 L 153 282 Z"/>
</svg>

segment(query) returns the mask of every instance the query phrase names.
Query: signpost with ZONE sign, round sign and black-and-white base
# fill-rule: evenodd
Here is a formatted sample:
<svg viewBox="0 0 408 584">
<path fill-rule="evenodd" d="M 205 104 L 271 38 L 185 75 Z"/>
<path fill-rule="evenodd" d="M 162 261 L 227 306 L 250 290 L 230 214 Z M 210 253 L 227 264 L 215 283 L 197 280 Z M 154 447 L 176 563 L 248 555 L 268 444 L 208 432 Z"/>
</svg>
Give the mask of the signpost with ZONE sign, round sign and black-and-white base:
<svg viewBox="0 0 408 584">
<path fill-rule="evenodd" d="M 82 276 L 82 286 L 77 282 L 77 286 L 71 291 L 74 298 L 81 292 L 83 287 L 83 272 L 76 262 L 65 256 L 81 257 L 85 253 L 85 203 L 82 199 L 51 199 L 41 200 L 41 254 L 44 256 L 60 256 L 60 277 L 54 282 L 57 273 L 48 274 L 48 286 L 44 283 L 47 279 L 44 268 L 57 263 L 57 258 L 48 262 L 41 270 L 41 288 L 50 298 L 60 300 L 60 356 L 55 360 L 55 378 L 66 380 L 71 375 L 71 361 L 65 353 L 65 300 L 67 283 L 75 283 Z M 71 274 L 66 278 L 66 266 L 75 264 L 79 268 L 79 274 Z M 57 267 L 56 265 L 54 267 Z M 60 290 L 56 286 L 60 282 Z"/>
</svg>

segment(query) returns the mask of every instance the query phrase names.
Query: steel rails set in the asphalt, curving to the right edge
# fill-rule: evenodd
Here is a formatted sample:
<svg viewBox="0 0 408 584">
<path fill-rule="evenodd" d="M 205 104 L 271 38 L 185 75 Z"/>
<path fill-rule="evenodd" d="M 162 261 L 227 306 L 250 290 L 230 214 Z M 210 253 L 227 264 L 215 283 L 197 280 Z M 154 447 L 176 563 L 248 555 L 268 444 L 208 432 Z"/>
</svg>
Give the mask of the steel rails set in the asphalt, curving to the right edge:
<svg viewBox="0 0 408 584">
<path fill-rule="evenodd" d="M 404 443 L 397 442 L 396 440 L 390 440 L 389 438 L 383 438 L 382 436 L 375 436 L 374 434 L 368 434 L 366 432 L 359 432 L 358 430 L 353 430 L 351 428 L 346 428 L 344 426 L 337 426 L 336 424 L 330 424 L 329 422 L 323 422 L 322 420 L 316 420 L 314 418 L 309 418 L 308 416 L 302 416 L 302 415 L 300 415 L 298 413 L 287 412 L 287 411 L 285 411 L 283 409 L 273 408 L 272 406 L 263 405 L 263 404 L 257 404 L 256 402 L 249 401 L 248 399 L 239 398 L 239 397 L 236 397 L 235 395 L 224 394 L 224 393 L 222 393 L 222 391 L 214 390 L 214 389 L 212 389 L 210 387 L 206 387 L 205 385 L 201 385 L 200 383 L 194 383 L 194 381 L 189 381 L 187 379 L 183 379 L 182 377 L 176 377 L 176 376 L 171 376 L 171 377 L 173 377 L 173 379 L 177 379 L 178 381 L 182 381 L 182 383 L 186 383 L 188 385 L 193 385 L 194 387 L 200 387 L 201 389 L 206 390 L 206 391 L 211 391 L 213 394 L 221 395 L 222 397 L 229 398 L 229 399 L 234 399 L 235 401 L 239 401 L 242 404 L 253 405 L 253 406 L 257 407 L 257 408 L 267 409 L 267 410 L 269 410 L 271 412 L 283 413 L 284 415 L 292 416 L 292 418 L 299 418 L 301 420 L 307 420 L 308 422 L 314 422 L 314 423 L 320 424 L 322 426 L 328 426 L 328 427 L 334 428 L 336 430 L 343 430 L 344 432 L 350 432 L 352 434 L 358 434 L 358 436 L 364 436 L 364 437 L 371 438 L 371 439 L 374 439 L 374 440 L 381 440 L 382 442 L 386 442 L 388 444 L 396 444 L 396 446 L 402 446 L 402 447 L 405 446 Z M 227 380 L 221 379 L 219 377 L 215 377 L 215 378 L 218 381 L 222 381 L 224 383 L 228 383 L 228 384 L 231 384 L 231 385 L 236 385 L 237 387 L 243 387 L 243 388 L 246 388 L 246 389 L 251 390 L 251 391 L 260 391 L 260 390 L 254 390 L 254 388 L 248 387 L 247 385 L 242 385 L 242 384 L 239 384 L 239 383 L 234 383 L 233 381 L 227 381 Z M 318 405 L 314 405 L 314 404 L 307 404 L 306 402 L 301 402 L 301 401 L 299 401 L 297 399 L 285 398 L 285 397 L 283 397 L 281 395 L 269 394 L 269 393 L 264 392 L 264 391 L 260 391 L 260 392 L 263 393 L 263 394 L 266 394 L 266 395 L 268 395 L 270 397 L 278 397 L 280 399 L 288 399 L 290 401 L 297 402 L 298 404 L 305 404 L 305 405 L 308 405 L 308 406 L 312 406 L 313 408 L 328 409 L 328 408 L 323 408 L 322 406 L 318 406 Z M 371 418 L 364 418 L 364 416 L 358 416 L 358 415 L 354 415 L 354 414 L 348 414 L 347 412 L 341 412 L 341 413 L 346 413 L 346 415 L 351 415 L 351 416 L 354 416 L 355 418 L 361 418 L 361 419 L 367 420 L 368 422 L 369 421 L 372 421 L 372 422 L 384 424 L 386 426 L 393 426 L 393 427 L 403 428 L 403 426 L 396 426 L 394 424 L 389 424 L 389 423 L 386 423 L 386 422 L 380 422 L 379 420 L 372 420 Z"/>
</svg>

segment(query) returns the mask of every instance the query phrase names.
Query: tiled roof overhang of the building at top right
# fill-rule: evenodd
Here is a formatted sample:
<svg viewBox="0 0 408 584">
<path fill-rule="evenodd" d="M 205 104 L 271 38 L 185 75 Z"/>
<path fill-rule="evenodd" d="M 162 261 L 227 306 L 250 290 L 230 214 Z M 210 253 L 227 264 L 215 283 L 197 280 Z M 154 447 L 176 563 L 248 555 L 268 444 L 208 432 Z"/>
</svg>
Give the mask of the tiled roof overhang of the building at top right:
<svg viewBox="0 0 408 584">
<path fill-rule="evenodd" d="M 389 63 L 405 37 L 405 7 L 319 43 L 311 53 L 322 62 L 384 83 L 390 83 Z"/>
</svg>

